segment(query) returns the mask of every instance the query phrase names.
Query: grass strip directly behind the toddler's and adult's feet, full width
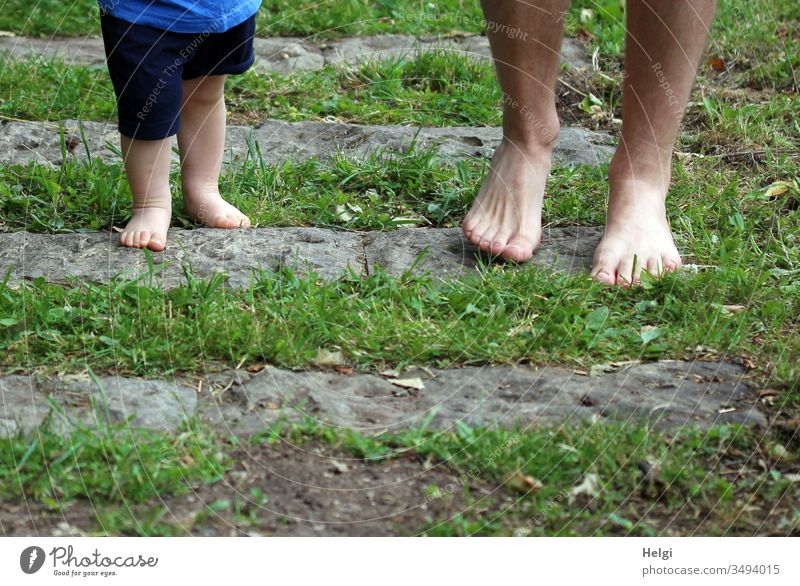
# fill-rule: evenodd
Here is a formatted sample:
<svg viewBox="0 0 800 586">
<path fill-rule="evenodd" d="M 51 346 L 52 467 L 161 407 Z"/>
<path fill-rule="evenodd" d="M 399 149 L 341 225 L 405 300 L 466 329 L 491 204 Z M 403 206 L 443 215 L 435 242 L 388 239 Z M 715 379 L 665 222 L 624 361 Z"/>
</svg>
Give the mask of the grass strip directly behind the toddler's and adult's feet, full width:
<svg viewBox="0 0 800 586">
<path fill-rule="evenodd" d="M 242 164 L 225 167 L 220 185 L 226 199 L 259 226 L 454 227 L 486 172 L 486 161 L 448 162 L 431 151 L 280 165 L 257 161 L 253 147 Z M 775 266 L 796 268 L 798 177 L 797 159 L 780 154 L 746 168 L 713 157 L 677 160 L 669 213 L 679 241 L 693 247 L 690 258 L 708 264 L 721 252 L 749 247 L 753 239 L 767 250 L 781 251 L 770 259 Z M 768 189 L 776 181 L 788 181 L 789 187 L 772 197 Z M 179 205 L 177 169 L 172 185 L 175 224 L 190 227 Z M 606 191 L 604 167 L 556 167 L 545 199 L 545 222 L 602 223 Z M 127 221 L 130 207 L 119 163 L 93 159 L 60 167 L 0 166 L 0 222 L 6 230 L 110 229 Z M 783 213 L 776 215 L 776 210 Z M 779 243 L 776 231 L 782 235 Z"/>
</svg>

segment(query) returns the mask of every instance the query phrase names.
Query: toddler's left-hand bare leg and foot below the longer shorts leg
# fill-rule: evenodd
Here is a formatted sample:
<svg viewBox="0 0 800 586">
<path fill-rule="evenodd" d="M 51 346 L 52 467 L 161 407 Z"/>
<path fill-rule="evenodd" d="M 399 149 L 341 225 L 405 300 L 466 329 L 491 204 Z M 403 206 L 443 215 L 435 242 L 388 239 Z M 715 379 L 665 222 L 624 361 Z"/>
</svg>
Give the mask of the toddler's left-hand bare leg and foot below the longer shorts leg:
<svg viewBox="0 0 800 586">
<path fill-rule="evenodd" d="M 171 150 L 171 137 L 133 140 L 122 136 L 125 171 L 133 193 L 133 216 L 119 239 L 123 246 L 164 250 L 172 216 Z"/>
</svg>

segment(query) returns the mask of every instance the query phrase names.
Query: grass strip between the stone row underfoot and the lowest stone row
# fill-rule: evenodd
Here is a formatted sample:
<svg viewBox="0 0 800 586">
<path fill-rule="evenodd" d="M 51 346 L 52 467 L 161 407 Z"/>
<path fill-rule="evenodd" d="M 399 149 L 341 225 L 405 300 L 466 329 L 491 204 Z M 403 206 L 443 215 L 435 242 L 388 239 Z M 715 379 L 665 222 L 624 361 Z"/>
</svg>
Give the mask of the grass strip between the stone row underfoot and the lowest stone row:
<svg viewBox="0 0 800 586">
<path fill-rule="evenodd" d="M 319 348 L 338 348 L 361 369 L 520 360 L 588 368 L 693 357 L 701 346 L 706 357 L 749 356 L 796 402 L 796 273 L 776 273 L 745 248 L 716 260 L 718 269 L 633 291 L 517 268 L 444 283 L 379 273 L 323 284 L 281 273 L 257 278 L 245 291 L 226 290 L 219 279 L 169 292 L 141 283 L 37 281 L 0 291 L 0 367 L 52 372 L 88 365 L 163 377 L 242 361 L 302 367 Z M 731 313 L 723 305 L 747 310 Z M 644 336 L 652 327 L 655 338 Z"/>
</svg>

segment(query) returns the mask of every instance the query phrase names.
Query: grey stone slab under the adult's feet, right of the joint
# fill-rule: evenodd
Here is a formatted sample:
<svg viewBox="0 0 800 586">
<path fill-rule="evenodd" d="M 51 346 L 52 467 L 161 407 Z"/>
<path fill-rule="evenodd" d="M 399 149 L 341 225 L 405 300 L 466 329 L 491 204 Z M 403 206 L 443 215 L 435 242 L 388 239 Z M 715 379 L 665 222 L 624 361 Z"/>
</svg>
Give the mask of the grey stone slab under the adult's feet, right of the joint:
<svg viewBox="0 0 800 586">
<path fill-rule="evenodd" d="M 567 273 L 588 269 L 602 235 L 603 229 L 595 226 L 546 228 L 541 245 L 528 263 Z M 400 276 L 414 268 L 415 272 L 457 278 L 474 272 L 488 260 L 459 228 L 367 233 L 364 246 L 370 274 L 380 267 L 389 275 Z"/>
</svg>

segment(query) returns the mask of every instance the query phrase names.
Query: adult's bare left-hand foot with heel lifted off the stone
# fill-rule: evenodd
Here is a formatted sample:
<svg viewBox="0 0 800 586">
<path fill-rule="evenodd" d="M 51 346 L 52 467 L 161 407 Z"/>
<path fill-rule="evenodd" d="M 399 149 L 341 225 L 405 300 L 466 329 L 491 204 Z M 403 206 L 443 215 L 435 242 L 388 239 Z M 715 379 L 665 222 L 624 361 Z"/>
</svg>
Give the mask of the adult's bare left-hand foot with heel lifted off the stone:
<svg viewBox="0 0 800 586">
<path fill-rule="evenodd" d="M 542 200 L 552 149 L 521 150 L 503 141 L 489 175 L 464 218 L 467 239 L 484 252 L 516 262 L 533 256 L 542 238 Z"/>
</svg>

